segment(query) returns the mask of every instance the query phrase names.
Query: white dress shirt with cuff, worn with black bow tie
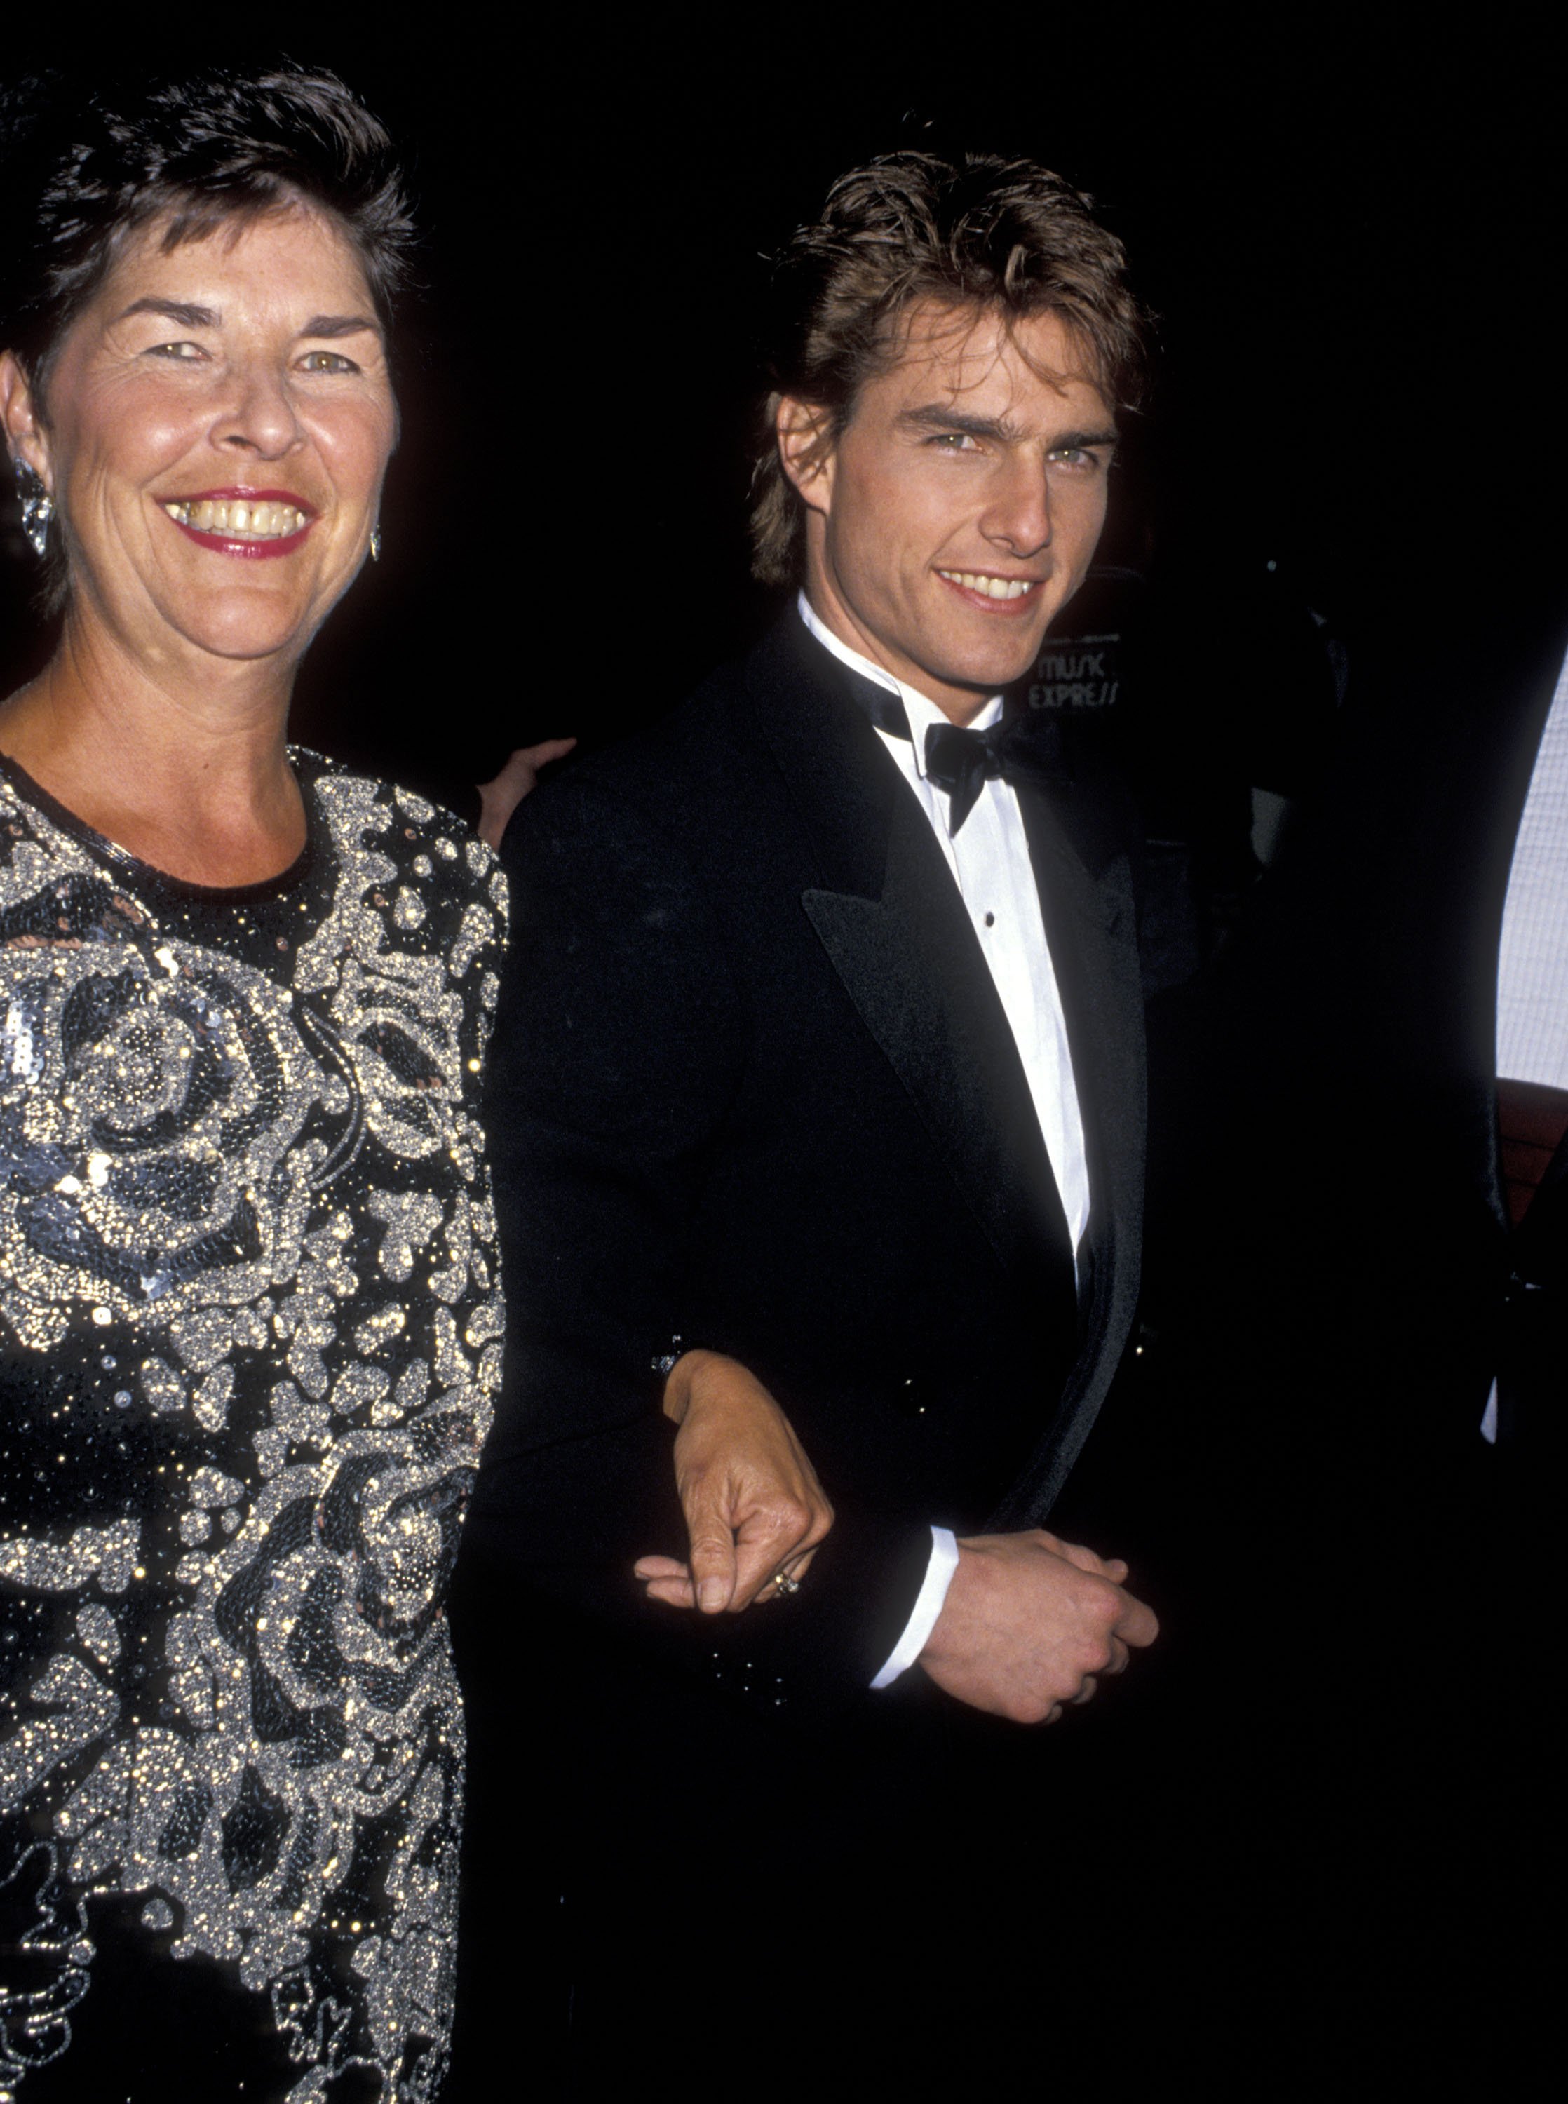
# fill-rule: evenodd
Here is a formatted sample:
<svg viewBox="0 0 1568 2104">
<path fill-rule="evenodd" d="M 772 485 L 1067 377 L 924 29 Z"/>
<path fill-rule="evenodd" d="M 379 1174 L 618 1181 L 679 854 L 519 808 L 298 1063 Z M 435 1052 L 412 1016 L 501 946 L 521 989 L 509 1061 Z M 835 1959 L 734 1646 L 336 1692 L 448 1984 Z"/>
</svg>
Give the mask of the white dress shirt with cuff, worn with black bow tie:
<svg viewBox="0 0 1568 2104">
<path fill-rule="evenodd" d="M 1023 812 L 1010 783 L 987 781 L 964 818 L 958 833 L 949 831 L 949 797 L 926 774 L 926 730 L 945 724 L 949 717 L 916 688 L 894 680 L 890 671 L 873 665 L 840 642 L 810 608 L 806 593 L 800 593 L 800 619 L 817 642 L 831 650 L 840 663 L 848 665 L 863 680 L 897 694 L 909 720 L 913 743 L 892 739 L 878 730 L 888 757 L 909 785 L 911 795 L 930 821 L 943 858 L 953 873 L 958 894 L 964 901 L 970 926 L 981 945 L 981 955 L 991 972 L 1002 1012 L 1008 1018 L 1012 1041 L 1023 1060 L 1023 1073 L 1033 1098 L 1040 1132 L 1057 1176 L 1067 1233 L 1073 1254 L 1088 1227 L 1088 1161 L 1084 1157 L 1084 1119 L 1078 1109 L 1078 1084 L 1073 1081 L 1073 1054 L 1067 1044 L 1067 1018 L 1061 1006 L 1057 972 L 1050 964 L 1046 924 L 1040 913 L 1040 890 L 1029 861 L 1029 839 L 1023 831 Z M 991 701 L 972 720 L 972 730 L 985 730 L 1002 715 L 1002 696 Z M 932 1528 L 932 1553 L 926 1565 L 926 1582 L 916 1599 L 916 1610 L 892 1650 L 892 1656 L 871 1681 L 873 1687 L 888 1687 L 905 1673 L 926 1647 L 926 1639 L 937 1626 L 937 1616 L 947 1599 L 947 1586 L 958 1570 L 958 1544 L 947 1528 Z"/>
</svg>

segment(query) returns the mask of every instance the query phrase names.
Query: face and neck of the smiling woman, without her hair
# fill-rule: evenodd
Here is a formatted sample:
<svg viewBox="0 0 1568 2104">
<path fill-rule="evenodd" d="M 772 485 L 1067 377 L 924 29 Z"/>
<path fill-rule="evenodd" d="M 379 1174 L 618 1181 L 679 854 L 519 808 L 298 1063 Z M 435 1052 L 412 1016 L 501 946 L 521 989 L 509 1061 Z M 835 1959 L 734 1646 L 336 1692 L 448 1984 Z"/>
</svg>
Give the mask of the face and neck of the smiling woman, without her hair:
<svg viewBox="0 0 1568 2104">
<path fill-rule="evenodd" d="M 173 728 L 164 703 L 179 692 L 185 724 L 210 726 L 232 751 L 236 707 L 259 739 L 265 726 L 278 766 L 299 656 L 375 530 L 396 410 L 341 219 L 284 191 L 200 240 L 170 248 L 173 231 L 162 215 L 116 242 L 40 379 L 15 353 L 0 366 L 0 412 L 57 509 L 72 593 L 72 654 L 11 703 L 0 736 L 55 774 L 69 766 L 61 747 L 91 764 L 76 720 L 103 709 L 109 663 L 118 743 L 147 751 L 147 707 L 128 707 L 133 694 Z M 80 675 L 84 642 L 99 677 Z M 183 766 L 179 778 L 192 785 Z M 93 816 L 80 804 L 93 787 L 72 789 L 72 808 Z M 147 797 L 133 812 L 116 783 L 103 816 L 120 831 L 99 829 L 200 882 L 272 875 L 272 812 L 246 812 L 236 791 L 217 808 L 198 789 L 194 808 L 189 795 L 185 808 Z"/>
</svg>

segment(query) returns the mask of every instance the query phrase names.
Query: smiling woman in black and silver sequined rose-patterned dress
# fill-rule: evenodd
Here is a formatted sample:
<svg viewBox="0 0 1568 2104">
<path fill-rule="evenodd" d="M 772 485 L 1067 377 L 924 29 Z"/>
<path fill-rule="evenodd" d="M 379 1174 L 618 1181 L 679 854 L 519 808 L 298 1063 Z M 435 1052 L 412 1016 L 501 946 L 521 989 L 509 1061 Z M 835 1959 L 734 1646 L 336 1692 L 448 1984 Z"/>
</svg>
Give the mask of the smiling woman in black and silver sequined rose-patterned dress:
<svg viewBox="0 0 1568 2104">
<path fill-rule="evenodd" d="M 505 892 L 286 745 L 377 553 L 408 213 L 326 74 L 8 145 L 0 417 L 63 629 L 0 703 L 0 2098 L 429 2100 Z"/>
</svg>

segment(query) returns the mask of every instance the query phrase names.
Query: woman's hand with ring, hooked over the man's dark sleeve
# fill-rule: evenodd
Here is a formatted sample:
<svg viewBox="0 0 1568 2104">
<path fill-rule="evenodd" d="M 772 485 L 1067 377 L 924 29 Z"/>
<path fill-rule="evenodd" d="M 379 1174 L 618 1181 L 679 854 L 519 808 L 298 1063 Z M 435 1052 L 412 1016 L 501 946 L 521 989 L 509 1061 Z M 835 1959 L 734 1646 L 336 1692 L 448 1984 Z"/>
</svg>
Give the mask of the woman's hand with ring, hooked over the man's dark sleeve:
<svg viewBox="0 0 1568 2104">
<path fill-rule="evenodd" d="M 648 1599 L 703 1614 L 739 1614 L 793 1591 L 833 1525 L 817 1471 L 760 1380 L 716 1351 L 688 1351 L 665 1382 L 676 1435 L 676 1488 L 690 1561 L 642 1557 Z M 779 1578 L 789 1584 L 779 1584 Z"/>
</svg>

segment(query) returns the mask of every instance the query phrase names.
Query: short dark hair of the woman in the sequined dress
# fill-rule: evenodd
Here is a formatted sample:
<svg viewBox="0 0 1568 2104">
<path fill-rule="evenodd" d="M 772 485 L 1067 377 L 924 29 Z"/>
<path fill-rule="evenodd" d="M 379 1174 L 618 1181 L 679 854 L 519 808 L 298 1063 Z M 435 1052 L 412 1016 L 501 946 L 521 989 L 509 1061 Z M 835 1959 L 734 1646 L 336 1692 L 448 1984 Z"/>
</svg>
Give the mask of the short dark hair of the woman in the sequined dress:
<svg viewBox="0 0 1568 2104">
<path fill-rule="evenodd" d="M 415 227 L 385 126 L 328 72 L 210 67 L 130 90 L 32 80 L 0 103 L 0 349 L 46 412 L 48 368 L 124 242 L 166 219 L 162 246 L 297 198 L 354 244 L 383 326 L 408 282 Z M 59 608 L 59 537 L 44 564 Z"/>
</svg>

